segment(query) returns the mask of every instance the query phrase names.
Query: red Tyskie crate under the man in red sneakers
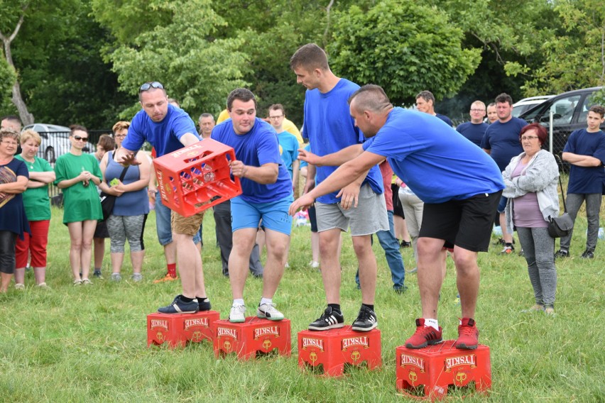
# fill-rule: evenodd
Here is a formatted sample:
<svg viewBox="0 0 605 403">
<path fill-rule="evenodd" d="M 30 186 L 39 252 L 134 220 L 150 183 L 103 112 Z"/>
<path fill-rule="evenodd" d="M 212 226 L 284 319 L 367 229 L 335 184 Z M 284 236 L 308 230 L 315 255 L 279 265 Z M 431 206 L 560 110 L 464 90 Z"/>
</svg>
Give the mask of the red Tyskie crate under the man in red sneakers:
<svg viewBox="0 0 605 403">
<path fill-rule="evenodd" d="M 489 347 L 479 344 L 476 350 L 454 348 L 454 340 L 412 349 L 395 349 L 396 388 L 408 397 L 442 399 L 449 387 L 467 387 L 474 382 L 476 391 L 491 388 Z"/>
</svg>

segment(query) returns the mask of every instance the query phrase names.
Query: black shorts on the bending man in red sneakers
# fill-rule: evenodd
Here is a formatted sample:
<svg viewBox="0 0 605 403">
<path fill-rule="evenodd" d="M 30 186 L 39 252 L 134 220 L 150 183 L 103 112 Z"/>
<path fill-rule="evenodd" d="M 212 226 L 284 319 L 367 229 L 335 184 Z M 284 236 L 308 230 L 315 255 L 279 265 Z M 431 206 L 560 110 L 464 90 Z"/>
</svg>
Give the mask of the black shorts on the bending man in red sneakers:
<svg viewBox="0 0 605 403">
<path fill-rule="evenodd" d="M 476 194 L 469 199 L 425 203 L 420 237 L 443 239 L 445 248 L 487 252 L 494 214 L 502 191 Z"/>
</svg>

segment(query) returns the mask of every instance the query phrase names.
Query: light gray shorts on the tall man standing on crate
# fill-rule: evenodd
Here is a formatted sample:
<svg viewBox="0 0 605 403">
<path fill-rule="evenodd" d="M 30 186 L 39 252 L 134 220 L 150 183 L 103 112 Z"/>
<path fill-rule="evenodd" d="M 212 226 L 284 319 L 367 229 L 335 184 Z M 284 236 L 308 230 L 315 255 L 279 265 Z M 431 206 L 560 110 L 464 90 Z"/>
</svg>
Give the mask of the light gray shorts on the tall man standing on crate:
<svg viewBox="0 0 605 403">
<path fill-rule="evenodd" d="M 378 231 L 389 231 L 384 194 L 376 194 L 369 184 L 359 189 L 357 207 L 349 210 L 340 204 L 315 202 L 317 213 L 317 232 L 340 228 L 347 231 L 351 227 L 351 236 L 371 235 Z"/>
</svg>

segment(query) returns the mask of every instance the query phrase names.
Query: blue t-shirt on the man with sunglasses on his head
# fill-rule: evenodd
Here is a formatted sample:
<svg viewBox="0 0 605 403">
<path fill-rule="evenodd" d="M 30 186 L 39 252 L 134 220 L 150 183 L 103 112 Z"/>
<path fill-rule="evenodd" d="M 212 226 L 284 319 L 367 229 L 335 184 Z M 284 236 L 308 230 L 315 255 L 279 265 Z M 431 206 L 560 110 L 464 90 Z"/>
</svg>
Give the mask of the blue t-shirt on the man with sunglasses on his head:
<svg viewBox="0 0 605 403">
<path fill-rule="evenodd" d="M 138 151 L 147 140 L 156 148 L 156 155 L 161 157 L 182 148 L 180 138 L 185 133 L 192 133 L 193 136 L 202 140 L 197 134 L 195 123 L 182 109 L 168 104 L 168 113 L 160 122 L 152 121 L 141 109 L 132 119 L 122 147 L 126 150 Z"/>
</svg>

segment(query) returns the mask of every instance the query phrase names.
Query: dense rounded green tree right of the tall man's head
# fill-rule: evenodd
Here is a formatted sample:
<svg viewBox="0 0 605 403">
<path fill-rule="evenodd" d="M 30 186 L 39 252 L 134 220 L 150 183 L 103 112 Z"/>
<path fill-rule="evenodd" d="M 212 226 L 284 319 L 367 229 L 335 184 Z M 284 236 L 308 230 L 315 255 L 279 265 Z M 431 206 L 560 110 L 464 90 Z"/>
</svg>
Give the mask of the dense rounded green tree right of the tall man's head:
<svg viewBox="0 0 605 403">
<path fill-rule="evenodd" d="M 381 85 L 394 104 L 410 104 L 423 89 L 437 99 L 454 94 L 479 64 L 480 51 L 462 49 L 462 30 L 445 13 L 412 0 L 338 12 L 333 37 L 334 70 Z"/>
</svg>

